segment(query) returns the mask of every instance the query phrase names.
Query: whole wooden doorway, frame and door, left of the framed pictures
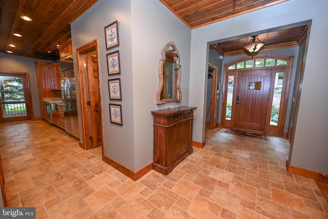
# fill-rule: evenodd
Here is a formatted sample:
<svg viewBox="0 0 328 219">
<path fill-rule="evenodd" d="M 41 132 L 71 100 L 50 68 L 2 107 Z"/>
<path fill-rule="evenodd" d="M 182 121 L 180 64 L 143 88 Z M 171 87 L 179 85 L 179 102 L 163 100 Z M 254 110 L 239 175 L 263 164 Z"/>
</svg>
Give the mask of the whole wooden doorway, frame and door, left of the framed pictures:
<svg viewBox="0 0 328 219">
<path fill-rule="evenodd" d="M 96 40 L 76 50 L 84 149 L 104 147 L 101 83 Z M 104 149 L 104 148 L 103 148 Z M 103 150 L 104 151 L 104 150 Z"/>
</svg>

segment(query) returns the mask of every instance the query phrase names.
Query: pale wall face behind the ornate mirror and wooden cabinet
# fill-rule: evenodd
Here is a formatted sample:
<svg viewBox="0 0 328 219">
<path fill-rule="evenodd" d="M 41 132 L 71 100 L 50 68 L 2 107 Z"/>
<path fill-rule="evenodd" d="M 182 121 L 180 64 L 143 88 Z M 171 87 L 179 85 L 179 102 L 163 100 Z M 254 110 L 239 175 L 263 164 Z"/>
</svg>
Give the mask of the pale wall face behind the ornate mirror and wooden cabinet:
<svg viewBox="0 0 328 219">
<path fill-rule="evenodd" d="M 156 105 L 161 49 L 173 41 L 180 54 L 182 103 Z M 136 170 L 153 162 L 152 110 L 188 106 L 191 30 L 160 1 L 132 1 L 134 143 Z"/>
</svg>

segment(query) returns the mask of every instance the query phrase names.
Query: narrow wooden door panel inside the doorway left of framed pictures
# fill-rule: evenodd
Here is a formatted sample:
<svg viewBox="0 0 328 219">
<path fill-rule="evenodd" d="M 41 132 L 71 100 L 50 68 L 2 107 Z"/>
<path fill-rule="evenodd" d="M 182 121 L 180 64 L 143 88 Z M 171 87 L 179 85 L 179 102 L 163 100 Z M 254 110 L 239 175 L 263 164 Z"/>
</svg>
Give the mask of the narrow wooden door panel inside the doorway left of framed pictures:
<svg viewBox="0 0 328 219">
<path fill-rule="evenodd" d="M 98 59 L 95 56 L 87 55 L 88 59 L 88 79 L 90 95 L 91 133 L 92 147 L 98 147 L 103 142 L 101 128 L 100 111 L 100 91 L 99 91 L 99 71 Z"/>
</svg>

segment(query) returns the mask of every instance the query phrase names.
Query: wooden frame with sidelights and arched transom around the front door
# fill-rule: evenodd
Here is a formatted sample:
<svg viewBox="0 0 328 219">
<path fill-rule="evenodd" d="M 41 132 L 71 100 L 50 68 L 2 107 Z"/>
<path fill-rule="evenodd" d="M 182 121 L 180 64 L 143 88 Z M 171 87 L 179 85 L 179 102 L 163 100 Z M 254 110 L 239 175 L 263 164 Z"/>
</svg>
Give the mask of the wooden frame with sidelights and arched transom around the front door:
<svg viewBox="0 0 328 219">
<path fill-rule="evenodd" d="M 256 57 L 253 58 L 254 59 L 254 65 L 255 65 L 255 60 L 256 59 L 279 59 L 282 61 L 286 61 L 287 64 L 284 66 L 279 66 L 279 65 L 275 65 L 275 66 L 263 66 L 263 67 L 254 67 L 254 69 L 277 69 L 277 68 L 286 68 L 287 72 L 284 75 L 284 82 L 283 82 L 283 93 L 281 93 L 281 99 L 283 100 L 280 104 L 280 110 L 279 110 L 279 121 L 278 121 L 278 127 L 277 129 L 275 129 L 274 131 L 270 131 L 271 129 L 271 125 L 270 125 L 270 115 L 271 115 L 271 103 L 272 103 L 272 98 L 269 99 L 269 106 L 268 107 L 268 113 L 267 113 L 267 125 L 265 126 L 265 130 L 264 132 L 268 132 L 268 134 L 272 134 L 272 135 L 277 135 L 277 136 L 281 136 L 281 137 L 286 137 L 286 133 L 283 132 L 283 128 L 284 128 L 284 124 L 285 124 L 285 116 L 286 116 L 286 110 L 287 110 L 287 104 L 288 104 L 288 94 L 289 94 L 289 89 L 290 89 L 290 81 L 291 81 L 291 73 L 292 73 L 292 66 L 293 66 L 293 61 L 294 61 L 294 56 L 285 56 L 285 55 L 256 55 Z M 232 118 L 231 120 L 227 121 L 226 120 L 226 105 L 227 105 L 227 88 L 228 88 L 228 77 L 230 74 L 235 76 L 235 79 L 238 75 L 238 72 L 240 71 L 245 71 L 245 70 L 251 70 L 252 68 L 243 68 L 243 69 L 229 69 L 230 66 L 234 65 L 237 66 L 238 63 L 243 62 L 243 61 L 248 61 L 251 60 L 250 57 L 243 57 L 243 58 L 239 58 L 236 59 L 235 61 L 232 61 L 230 63 L 227 63 L 224 65 L 224 79 L 223 79 L 223 99 L 222 99 L 222 110 L 221 110 L 221 121 L 223 124 L 223 127 L 225 128 L 233 128 L 233 114 L 234 112 L 234 105 L 235 105 L 235 98 L 233 98 L 233 109 L 232 109 Z M 274 71 L 272 71 L 274 72 Z M 273 79 L 273 78 L 272 78 Z M 234 85 L 234 89 L 233 89 L 233 94 L 236 93 L 236 85 L 237 82 Z M 270 90 L 273 90 L 273 87 L 270 88 Z M 269 98 L 270 96 L 273 95 L 273 93 L 271 92 L 269 94 Z M 272 129 L 271 129 L 272 130 Z"/>
</svg>

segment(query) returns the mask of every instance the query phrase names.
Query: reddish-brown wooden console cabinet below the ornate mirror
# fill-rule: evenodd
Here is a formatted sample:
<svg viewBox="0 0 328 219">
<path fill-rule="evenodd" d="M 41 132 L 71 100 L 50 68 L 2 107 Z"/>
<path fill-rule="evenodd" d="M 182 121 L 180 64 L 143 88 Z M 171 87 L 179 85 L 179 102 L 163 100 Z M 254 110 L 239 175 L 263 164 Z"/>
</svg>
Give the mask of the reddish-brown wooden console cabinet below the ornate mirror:
<svg viewBox="0 0 328 219">
<path fill-rule="evenodd" d="M 193 153 L 192 133 L 196 107 L 152 111 L 154 115 L 153 169 L 167 175 Z"/>
</svg>

